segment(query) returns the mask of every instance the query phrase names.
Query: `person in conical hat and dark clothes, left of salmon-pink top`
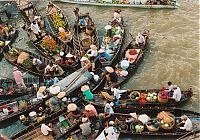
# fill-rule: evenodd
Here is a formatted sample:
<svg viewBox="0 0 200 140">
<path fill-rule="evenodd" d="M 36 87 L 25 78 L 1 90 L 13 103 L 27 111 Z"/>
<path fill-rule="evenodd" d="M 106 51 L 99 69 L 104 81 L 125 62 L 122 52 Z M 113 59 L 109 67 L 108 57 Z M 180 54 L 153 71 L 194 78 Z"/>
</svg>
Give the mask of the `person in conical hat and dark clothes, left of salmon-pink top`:
<svg viewBox="0 0 200 140">
<path fill-rule="evenodd" d="M 81 110 L 74 103 L 68 104 L 67 110 L 68 110 L 68 112 L 70 112 L 70 115 L 73 116 L 73 117 L 80 117 L 81 116 Z"/>
</svg>

